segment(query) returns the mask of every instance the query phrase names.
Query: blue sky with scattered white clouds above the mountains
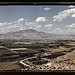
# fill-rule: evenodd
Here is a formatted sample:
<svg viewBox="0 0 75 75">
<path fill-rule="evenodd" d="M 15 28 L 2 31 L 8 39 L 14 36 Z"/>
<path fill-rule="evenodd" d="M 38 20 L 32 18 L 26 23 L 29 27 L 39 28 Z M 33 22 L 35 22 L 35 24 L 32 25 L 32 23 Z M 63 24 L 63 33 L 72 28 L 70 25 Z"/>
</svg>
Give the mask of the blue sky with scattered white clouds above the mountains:
<svg viewBox="0 0 75 75">
<path fill-rule="evenodd" d="M 0 34 L 27 29 L 75 35 L 75 6 L 0 6 Z"/>
</svg>

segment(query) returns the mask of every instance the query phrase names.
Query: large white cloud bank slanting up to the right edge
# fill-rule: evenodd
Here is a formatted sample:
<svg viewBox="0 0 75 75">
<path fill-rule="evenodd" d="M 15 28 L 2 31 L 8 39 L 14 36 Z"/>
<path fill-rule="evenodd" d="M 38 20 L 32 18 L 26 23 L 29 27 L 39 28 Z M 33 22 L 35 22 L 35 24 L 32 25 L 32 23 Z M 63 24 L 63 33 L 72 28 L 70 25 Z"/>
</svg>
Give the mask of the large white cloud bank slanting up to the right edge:
<svg viewBox="0 0 75 75">
<path fill-rule="evenodd" d="M 73 14 L 75 14 L 75 8 L 61 11 L 58 13 L 58 15 L 53 16 L 53 21 L 62 21 L 67 17 L 74 17 L 75 15 Z"/>
</svg>

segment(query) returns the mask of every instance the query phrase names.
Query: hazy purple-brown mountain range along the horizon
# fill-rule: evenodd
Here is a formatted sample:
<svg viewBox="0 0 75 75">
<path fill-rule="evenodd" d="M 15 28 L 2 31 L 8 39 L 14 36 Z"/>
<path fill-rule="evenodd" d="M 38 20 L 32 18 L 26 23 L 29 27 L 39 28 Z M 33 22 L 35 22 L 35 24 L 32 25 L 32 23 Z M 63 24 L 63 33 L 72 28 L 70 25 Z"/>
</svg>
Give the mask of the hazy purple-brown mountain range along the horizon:
<svg viewBox="0 0 75 75">
<path fill-rule="evenodd" d="M 75 40 L 75 35 L 56 35 L 51 33 L 39 32 L 34 29 L 19 30 L 0 34 L 0 39 L 51 39 L 51 40 Z"/>
</svg>

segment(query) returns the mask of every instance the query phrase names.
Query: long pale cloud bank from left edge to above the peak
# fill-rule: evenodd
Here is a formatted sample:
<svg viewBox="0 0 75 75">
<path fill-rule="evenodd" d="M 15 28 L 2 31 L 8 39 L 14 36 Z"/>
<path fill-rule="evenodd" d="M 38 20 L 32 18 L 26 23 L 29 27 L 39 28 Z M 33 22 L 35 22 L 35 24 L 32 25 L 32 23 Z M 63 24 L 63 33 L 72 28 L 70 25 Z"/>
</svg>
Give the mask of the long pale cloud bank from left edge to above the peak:
<svg viewBox="0 0 75 75">
<path fill-rule="evenodd" d="M 15 32 L 19 30 L 25 30 L 25 29 L 35 29 L 35 30 L 40 30 L 42 25 L 40 25 L 39 22 L 36 21 L 25 21 L 24 18 L 20 18 L 16 21 L 12 22 L 4 22 L 0 23 L 0 33 L 4 34 L 7 32 Z"/>
</svg>

